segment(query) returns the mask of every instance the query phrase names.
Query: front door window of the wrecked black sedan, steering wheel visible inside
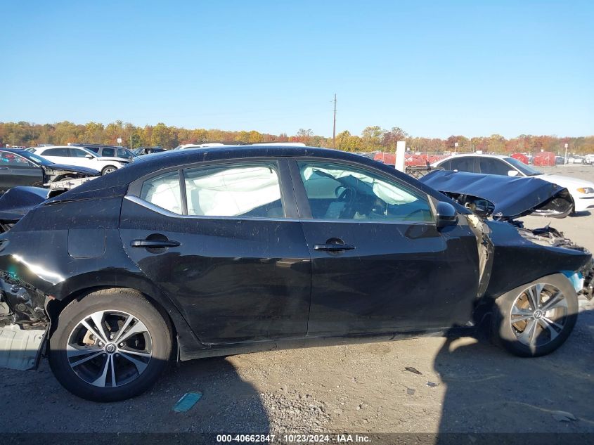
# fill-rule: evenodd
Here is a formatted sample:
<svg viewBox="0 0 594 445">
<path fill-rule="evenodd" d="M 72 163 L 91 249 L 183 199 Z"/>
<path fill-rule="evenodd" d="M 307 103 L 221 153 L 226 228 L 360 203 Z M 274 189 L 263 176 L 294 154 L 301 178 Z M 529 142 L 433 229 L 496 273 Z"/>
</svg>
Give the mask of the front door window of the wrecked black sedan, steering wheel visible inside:
<svg viewBox="0 0 594 445">
<path fill-rule="evenodd" d="M 298 162 L 314 219 L 433 221 L 424 195 L 366 169 Z"/>
</svg>

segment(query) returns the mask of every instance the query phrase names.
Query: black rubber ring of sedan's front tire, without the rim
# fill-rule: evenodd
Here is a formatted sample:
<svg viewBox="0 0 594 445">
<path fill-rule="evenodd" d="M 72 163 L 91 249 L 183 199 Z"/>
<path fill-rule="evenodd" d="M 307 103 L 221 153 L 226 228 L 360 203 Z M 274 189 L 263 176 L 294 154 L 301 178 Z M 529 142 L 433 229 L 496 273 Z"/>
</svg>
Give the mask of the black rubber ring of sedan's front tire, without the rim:
<svg viewBox="0 0 594 445">
<path fill-rule="evenodd" d="M 519 294 L 526 288 L 537 283 L 553 285 L 555 288 L 563 292 L 563 296 L 567 300 L 567 317 L 565 319 L 563 330 L 557 335 L 555 340 L 541 346 L 529 347 L 517 340 L 511 323 L 509 322 L 509 317 L 512 305 Z M 496 299 L 495 304 L 493 304 L 493 337 L 495 337 L 498 344 L 517 356 L 537 357 L 550 354 L 560 347 L 572 333 L 577 321 L 578 309 L 576 290 L 567 277 L 562 274 L 555 274 L 538 278 L 538 280 L 534 280 L 531 283 L 510 290 L 510 292 L 506 292 Z"/>
</svg>

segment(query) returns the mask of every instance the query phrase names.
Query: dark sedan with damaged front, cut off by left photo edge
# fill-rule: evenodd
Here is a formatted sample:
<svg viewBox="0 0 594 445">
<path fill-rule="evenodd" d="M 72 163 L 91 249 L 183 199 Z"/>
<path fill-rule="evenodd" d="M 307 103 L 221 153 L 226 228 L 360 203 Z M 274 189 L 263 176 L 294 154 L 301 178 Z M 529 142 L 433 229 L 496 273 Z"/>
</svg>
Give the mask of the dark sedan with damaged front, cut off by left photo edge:
<svg viewBox="0 0 594 445">
<path fill-rule="evenodd" d="M 93 169 L 54 164 L 27 150 L 0 149 L 0 193 L 17 186 L 43 186 L 67 178 L 100 175 Z"/>
</svg>

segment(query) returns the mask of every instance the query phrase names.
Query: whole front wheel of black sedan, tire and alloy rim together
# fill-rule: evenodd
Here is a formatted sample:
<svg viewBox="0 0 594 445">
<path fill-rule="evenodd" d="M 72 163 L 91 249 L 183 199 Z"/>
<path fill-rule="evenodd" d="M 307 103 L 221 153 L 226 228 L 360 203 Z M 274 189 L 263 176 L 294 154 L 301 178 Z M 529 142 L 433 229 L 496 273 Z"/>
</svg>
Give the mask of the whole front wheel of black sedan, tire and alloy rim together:
<svg viewBox="0 0 594 445">
<path fill-rule="evenodd" d="M 532 296 L 536 294 L 538 307 L 534 309 Z M 492 337 L 517 356 L 543 356 L 567 340 L 577 314 L 578 297 L 572 283 L 562 274 L 545 276 L 496 299 Z"/>
</svg>

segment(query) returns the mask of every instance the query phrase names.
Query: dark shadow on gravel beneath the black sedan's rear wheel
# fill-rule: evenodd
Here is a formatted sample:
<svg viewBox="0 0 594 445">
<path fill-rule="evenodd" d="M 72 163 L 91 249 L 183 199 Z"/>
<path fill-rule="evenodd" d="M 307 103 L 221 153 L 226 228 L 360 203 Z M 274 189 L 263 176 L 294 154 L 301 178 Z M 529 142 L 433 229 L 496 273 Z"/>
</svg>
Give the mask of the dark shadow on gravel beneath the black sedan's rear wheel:
<svg viewBox="0 0 594 445">
<path fill-rule="evenodd" d="M 37 372 L 4 370 L 4 376 L 8 379 L 0 382 L 3 433 L 264 434 L 270 429 L 259 393 L 220 357 L 172 365 L 145 394 L 108 404 L 85 401 L 67 392 L 53 378 L 46 361 Z M 172 408 L 186 392 L 201 392 L 202 398 L 186 413 L 174 413 Z"/>
</svg>

